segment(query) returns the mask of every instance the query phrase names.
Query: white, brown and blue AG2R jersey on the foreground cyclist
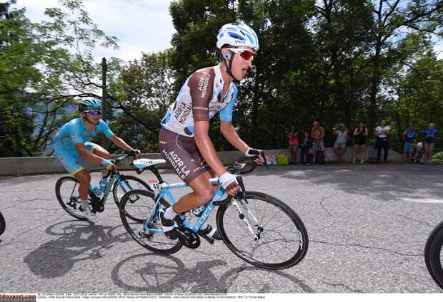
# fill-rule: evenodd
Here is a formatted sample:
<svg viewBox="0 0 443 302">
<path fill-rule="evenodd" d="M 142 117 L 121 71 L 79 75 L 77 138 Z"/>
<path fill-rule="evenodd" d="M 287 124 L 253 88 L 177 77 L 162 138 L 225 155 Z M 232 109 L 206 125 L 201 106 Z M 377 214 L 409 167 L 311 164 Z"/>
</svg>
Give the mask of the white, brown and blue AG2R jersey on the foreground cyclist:
<svg viewBox="0 0 443 302">
<path fill-rule="evenodd" d="M 237 87 L 231 83 L 222 95 L 223 85 L 218 65 L 192 73 L 169 106 L 161 126 L 179 135 L 194 137 L 194 120 L 210 120 L 219 112 L 220 120 L 231 122 Z"/>
</svg>

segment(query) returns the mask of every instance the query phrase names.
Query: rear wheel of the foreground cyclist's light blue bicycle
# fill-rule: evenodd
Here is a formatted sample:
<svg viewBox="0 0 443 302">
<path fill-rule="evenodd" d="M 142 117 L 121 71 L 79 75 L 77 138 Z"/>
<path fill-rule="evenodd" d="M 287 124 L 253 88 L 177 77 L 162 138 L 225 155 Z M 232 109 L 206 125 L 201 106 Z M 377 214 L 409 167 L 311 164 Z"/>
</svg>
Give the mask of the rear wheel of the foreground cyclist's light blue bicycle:
<svg viewBox="0 0 443 302">
<path fill-rule="evenodd" d="M 174 254 L 181 249 L 179 239 L 171 240 L 161 231 L 158 210 L 149 221 L 149 229 L 157 231 L 145 231 L 144 222 L 154 210 L 155 195 L 153 192 L 136 189 L 129 191 L 120 200 L 120 218 L 126 231 L 131 237 L 145 249 L 157 254 Z M 169 207 L 169 202 L 160 200 L 160 207 Z M 129 217 L 145 217 L 144 220 L 129 220 Z"/>
</svg>

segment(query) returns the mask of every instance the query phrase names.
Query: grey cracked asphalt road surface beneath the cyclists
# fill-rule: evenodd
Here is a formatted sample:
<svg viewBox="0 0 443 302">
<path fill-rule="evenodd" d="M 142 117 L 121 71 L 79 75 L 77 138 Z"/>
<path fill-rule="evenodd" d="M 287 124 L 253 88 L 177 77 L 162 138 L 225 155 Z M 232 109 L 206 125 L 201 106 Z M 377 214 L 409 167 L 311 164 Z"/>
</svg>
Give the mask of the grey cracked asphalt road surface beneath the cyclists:
<svg viewBox="0 0 443 302">
<path fill-rule="evenodd" d="M 126 234 L 113 202 L 94 223 L 66 214 L 54 194 L 61 175 L 2 177 L 0 292 L 442 293 L 423 258 L 443 219 L 442 172 L 328 165 L 261 168 L 245 177 L 247 189 L 284 200 L 307 227 L 307 256 L 283 271 L 251 266 L 222 242 L 152 254 Z"/>
</svg>

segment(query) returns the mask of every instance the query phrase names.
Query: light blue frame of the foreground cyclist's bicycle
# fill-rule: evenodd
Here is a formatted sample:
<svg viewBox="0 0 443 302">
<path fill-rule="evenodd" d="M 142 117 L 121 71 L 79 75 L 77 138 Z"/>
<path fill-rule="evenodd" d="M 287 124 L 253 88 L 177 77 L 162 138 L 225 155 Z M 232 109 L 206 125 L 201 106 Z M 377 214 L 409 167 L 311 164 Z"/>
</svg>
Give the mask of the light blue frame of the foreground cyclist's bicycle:
<svg viewBox="0 0 443 302">
<path fill-rule="evenodd" d="M 219 181 L 218 178 L 209 179 L 209 182 L 211 182 L 211 184 L 213 184 L 213 185 L 218 184 L 218 181 Z M 156 212 L 158 210 L 160 200 L 164 197 L 167 197 L 167 199 L 169 199 L 169 201 L 171 202 L 171 205 L 175 204 L 176 199 L 172 195 L 171 189 L 189 187 L 189 185 L 184 182 L 179 182 L 179 183 L 175 183 L 175 184 L 167 184 L 166 182 L 163 182 L 160 184 L 160 186 L 161 186 L 160 192 L 155 197 L 155 202 L 156 202 L 155 206 L 152 209 L 151 213 L 149 213 L 149 217 L 148 217 L 148 219 L 146 219 L 146 222 L 144 222 L 144 226 L 143 226 L 143 229 L 145 231 L 151 231 L 153 233 L 163 233 L 163 231 L 161 229 L 151 229 L 148 226 L 149 222 L 153 218 L 153 215 L 156 214 Z M 199 231 L 199 229 L 201 229 L 201 227 L 204 225 L 206 220 L 209 218 L 209 215 L 211 214 L 212 210 L 214 210 L 214 208 L 216 207 L 214 205 L 214 202 L 219 201 L 221 199 L 221 197 L 223 197 L 224 193 L 225 193 L 225 190 L 223 189 L 223 187 L 221 187 L 219 185 L 219 189 L 217 189 L 217 191 L 215 192 L 211 201 L 206 204 L 206 206 L 204 207 L 204 212 L 201 214 L 201 216 L 199 217 L 199 219 L 197 220 L 197 222 L 193 226 L 191 226 L 189 224 L 189 222 L 186 221 L 184 214 L 180 214 L 179 216 L 184 221 L 184 226 L 186 228 L 192 229 L 192 231 L 197 233 Z"/>
</svg>

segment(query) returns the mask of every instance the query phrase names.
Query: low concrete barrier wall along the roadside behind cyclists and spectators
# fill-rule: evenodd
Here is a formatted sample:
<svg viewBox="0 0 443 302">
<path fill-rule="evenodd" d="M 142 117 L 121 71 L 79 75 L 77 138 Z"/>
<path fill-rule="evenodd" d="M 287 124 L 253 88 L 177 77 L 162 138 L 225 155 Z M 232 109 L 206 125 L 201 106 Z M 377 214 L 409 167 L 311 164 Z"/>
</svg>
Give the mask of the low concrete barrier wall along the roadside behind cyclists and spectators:
<svg viewBox="0 0 443 302">
<path fill-rule="evenodd" d="M 351 161 L 352 160 L 352 152 L 353 147 L 348 147 L 346 153 L 344 154 L 344 160 Z M 326 148 L 327 158 L 329 161 L 334 162 L 336 159 L 334 150 L 332 148 Z M 277 154 L 286 154 L 289 155 L 288 149 L 280 149 L 280 150 L 265 150 L 266 155 L 277 155 Z M 297 152 L 297 160 L 300 161 L 300 151 Z M 230 164 L 237 160 L 239 157 L 242 157 L 242 153 L 239 151 L 223 151 L 217 152 L 221 162 L 224 165 Z M 120 157 L 121 155 L 111 155 L 112 158 Z M 367 157 L 377 157 L 377 150 L 374 150 L 374 147 L 367 147 Z M 161 157 L 160 153 L 146 153 L 141 155 L 141 158 L 151 158 L 151 159 L 159 159 Z M 402 155 L 392 150 L 389 150 L 388 160 L 392 161 L 401 161 Z M 133 170 L 134 167 L 131 167 L 131 160 L 125 160 L 121 164 L 121 170 Z M 92 162 L 86 162 L 86 168 L 91 169 L 98 167 Z M 159 165 L 160 168 L 171 168 L 169 164 Z M 6 157 L 0 158 L 0 175 L 28 175 L 28 174 L 49 174 L 49 173 L 66 173 L 63 165 L 57 159 L 57 157 Z"/>
</svg>

